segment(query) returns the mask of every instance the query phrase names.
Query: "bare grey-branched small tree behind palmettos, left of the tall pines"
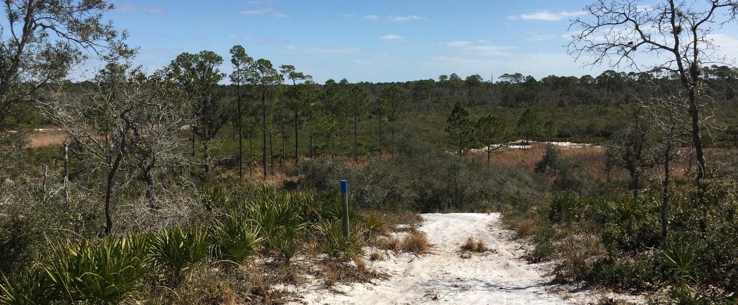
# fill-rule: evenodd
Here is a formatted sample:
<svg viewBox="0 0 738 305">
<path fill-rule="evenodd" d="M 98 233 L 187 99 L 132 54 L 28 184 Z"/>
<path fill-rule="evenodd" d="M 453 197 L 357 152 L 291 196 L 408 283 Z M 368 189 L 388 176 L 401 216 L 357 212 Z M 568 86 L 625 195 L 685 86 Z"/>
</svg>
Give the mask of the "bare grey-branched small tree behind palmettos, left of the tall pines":
<svg viewBox="0 0 738 305">
<path fill-rule="evenodd" d="M 82 94 L 60 91 L 41 101 L 41 110 L 70 135 L 69 146 L 93 172 L 104 172 L 105 233 L 110 234 L 111 198 L 134 177 L 147 184 L 156 205 L 152 171 L 184 160 L 179 131 L 191 125 L 186 99 L 157 72 L 148 77 L 139 68 L 110 63 Z M 137 169 L 120 179 L 119 171 Z"/>
</svg>

